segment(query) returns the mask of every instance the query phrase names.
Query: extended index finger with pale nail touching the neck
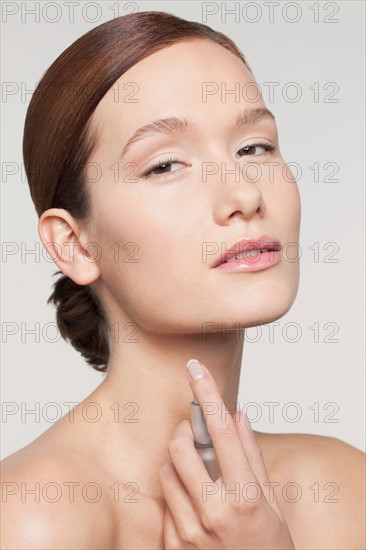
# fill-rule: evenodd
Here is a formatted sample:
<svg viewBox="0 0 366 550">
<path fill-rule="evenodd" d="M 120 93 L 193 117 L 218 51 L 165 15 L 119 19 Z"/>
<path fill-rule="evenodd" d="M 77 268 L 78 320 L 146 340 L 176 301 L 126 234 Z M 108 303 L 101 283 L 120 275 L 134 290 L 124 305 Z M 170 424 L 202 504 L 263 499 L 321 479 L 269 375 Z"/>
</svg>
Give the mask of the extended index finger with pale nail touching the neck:
<svg viewBox="0 0 366 550">
<path fill-rule="evenodd" d="M 199 363 L 200 365 L 200 363 Z M 193 368 L 192 368 L 193 367 Z M 197 360 L 188 361 L 188 379 L 206 419 L 207 429 L 212 439 L 223 481 L 230 486 L 235 482 L 255 482 L 255 475 L 246 457 L 235 422 L 230 415 L 216 382 L 205 365 L 203 376 L 191 378 L 190 371 L 198 372 Z"/>
</svg>

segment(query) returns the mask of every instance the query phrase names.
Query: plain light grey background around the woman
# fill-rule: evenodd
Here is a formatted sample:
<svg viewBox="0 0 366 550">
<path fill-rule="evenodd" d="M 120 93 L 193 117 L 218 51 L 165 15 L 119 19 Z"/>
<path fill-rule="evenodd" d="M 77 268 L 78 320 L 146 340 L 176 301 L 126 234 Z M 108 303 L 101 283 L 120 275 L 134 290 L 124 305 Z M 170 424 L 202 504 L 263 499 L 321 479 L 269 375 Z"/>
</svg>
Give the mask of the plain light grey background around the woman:
<svg viewBox="0 0 366 550">
<path fill-rule="evenodd" d="M 66 403 L 80 402 L 103 379 L 52 328 L 55 310 L 46 301 L 57 266 L 42 256 L 21 147 L 31 97 L 26 91 L 74 40 L 116 15 L 117 2 L 79 1 L 73 22 L 63 2 L 41 2 L 36 21 L 38 15 L 29 13 L 35 4 L 2 2 L 2 80 L 8 94 L 2 99 L 1 229 L 3 247 L 15 247 L 13 255 L 2 255 L 1 264 L 2 406 L 13 412 L 3 415 L 3 457 L 34 440 L 68 411 Z M 203 4 L 120 2 L 119 14 L 169 11 L 234 39 L 277 118 L 285 160 L 301 167 L 298 296 L 278 324 L 247 331 L 252 342 L 244 346 L 240 406 L 253 403 L 247 410 L 256 430 L 322 434 L 365 450 L 365 4 Z M 9 5 L 17 13 L 7 15 Z M 225 5 L 236 7 L 236 15 L 225 18 Z M 217 13 L 204 19 L 203 9 Z M 266 82 L 278 83 L 273 98 Z M 291 101 L 296 90 L 301 98 Z M 319 181 L 310 168 L 315 163 Z M 17 173 L 6 176 L 11 168 Z M 37 246 L 36 255 L 24 254 Z M 26 332 L 32 328 L 36 336 Z M 268 403 L 278 404 L 273 418 Z M 30 409 L 39 417 L 25 414 Z"/>
</svg>

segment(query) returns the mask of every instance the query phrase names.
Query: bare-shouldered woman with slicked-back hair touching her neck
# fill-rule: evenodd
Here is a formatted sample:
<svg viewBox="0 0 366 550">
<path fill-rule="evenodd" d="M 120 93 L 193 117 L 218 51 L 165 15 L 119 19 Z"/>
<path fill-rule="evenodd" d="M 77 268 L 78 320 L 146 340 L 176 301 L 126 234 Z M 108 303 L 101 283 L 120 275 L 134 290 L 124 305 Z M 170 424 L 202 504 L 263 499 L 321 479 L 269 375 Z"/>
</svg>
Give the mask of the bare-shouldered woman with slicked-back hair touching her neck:
<svg viewBox="0 0 366 550">
<path fill-rule="evenodd" d="M 363 453 L 253 432 L 236 411 L 243 329 L 283 316 L 299 282 L 298 188 L 254 87 L 230 39 L 161 12 L 94 28 L 43 76 L 24 161 L 63 273 L 50 301 L 107 376 L 3 461 L 4 547 L 363 548 Z"/>
</svg>

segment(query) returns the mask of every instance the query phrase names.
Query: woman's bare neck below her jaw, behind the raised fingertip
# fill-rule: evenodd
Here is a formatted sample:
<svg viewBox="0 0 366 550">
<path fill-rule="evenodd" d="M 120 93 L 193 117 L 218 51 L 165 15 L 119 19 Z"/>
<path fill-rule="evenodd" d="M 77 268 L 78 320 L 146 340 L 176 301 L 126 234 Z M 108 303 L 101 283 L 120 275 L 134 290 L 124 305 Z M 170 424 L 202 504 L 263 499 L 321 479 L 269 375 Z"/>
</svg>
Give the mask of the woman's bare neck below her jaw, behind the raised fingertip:
<svg viewBox="0 0 366 550">
<path fill-rule="evenodd" d="M 158 469 L 171 462 L 168 443 L 179 422 L 190 419 L 193 399 L 186 364 L 191 358 L 213 375 L 233 415 L 237 409 L 243 331 L 202 335 L 146 335 L 138 342 L 119 342 L 112 350 L 108 373 L 93 394 L 102 405 L 98 441 L 103 464 L 139 490 L 162 498 Z M 99 446 L 99 449 L 101 446 Z"/>
</svg>

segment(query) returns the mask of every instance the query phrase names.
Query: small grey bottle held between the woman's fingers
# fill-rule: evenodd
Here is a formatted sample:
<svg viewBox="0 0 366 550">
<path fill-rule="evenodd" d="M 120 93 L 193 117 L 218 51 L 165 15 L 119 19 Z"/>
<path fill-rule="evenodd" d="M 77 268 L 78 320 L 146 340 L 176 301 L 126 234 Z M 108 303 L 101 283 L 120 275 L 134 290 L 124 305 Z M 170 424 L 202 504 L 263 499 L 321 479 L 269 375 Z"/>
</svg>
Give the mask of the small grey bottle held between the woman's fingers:
<svg viewBox="0 0 366 550">
<path fill-rule="evenodd" d="M 194 446 L 206 466 L 208 475 L 212 481 L 216 481 L 221 475 L 220 468 L 217 462 L 215 449 L 212 446 L 210 434 L 207 430 L 205 417 L 200 404 L 195 399 L 191 401 L 191 421 L 194 434 Z"/>
</svg>

